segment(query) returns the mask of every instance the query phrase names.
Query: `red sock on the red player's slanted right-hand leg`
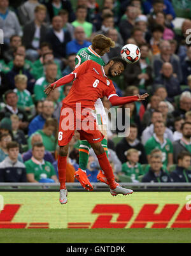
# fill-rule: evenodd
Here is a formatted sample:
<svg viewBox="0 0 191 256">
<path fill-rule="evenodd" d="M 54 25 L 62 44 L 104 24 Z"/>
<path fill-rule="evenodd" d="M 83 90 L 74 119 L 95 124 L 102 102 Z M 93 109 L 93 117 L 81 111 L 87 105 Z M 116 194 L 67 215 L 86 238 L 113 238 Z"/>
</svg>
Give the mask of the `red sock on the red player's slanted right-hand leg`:
<svg viewBox="0 0 191 256">
<path fill-rule="evenodd" d="M 104 171 L 104 174 L 106 176 L 106 179 L 108 180 L 108 183 L 110 184 L 111 190 L 114 190 L 116 188 L 115 177 L 113 175 L 113 170 L 111 168 L 111 165 L 106 153 L 99 154 L 99 156 L 97 156 L 97 159 L 99 161 L 99 165 L 101 169 Z"/>
</svg>

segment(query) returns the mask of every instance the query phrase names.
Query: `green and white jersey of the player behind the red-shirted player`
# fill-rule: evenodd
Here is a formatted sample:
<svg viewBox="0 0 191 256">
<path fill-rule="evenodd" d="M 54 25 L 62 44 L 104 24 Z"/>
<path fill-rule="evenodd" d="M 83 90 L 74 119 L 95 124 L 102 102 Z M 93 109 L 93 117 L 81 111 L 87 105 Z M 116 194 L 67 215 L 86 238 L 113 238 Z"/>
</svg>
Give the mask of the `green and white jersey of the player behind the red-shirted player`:
<svg viewBox="0 0 191 256">
<path fill-rule="evenodd" d="M 75 59 L 76 68 L 80 66 L 81 63 L 91 59 L 96 63 L 100 64 L 101 66 L 105 66 L 103 59 L 99 56 L 94 50 L 92 50 L 91 45 L 89 47 L 82 48 L 78 51 Z"/>
</svg>

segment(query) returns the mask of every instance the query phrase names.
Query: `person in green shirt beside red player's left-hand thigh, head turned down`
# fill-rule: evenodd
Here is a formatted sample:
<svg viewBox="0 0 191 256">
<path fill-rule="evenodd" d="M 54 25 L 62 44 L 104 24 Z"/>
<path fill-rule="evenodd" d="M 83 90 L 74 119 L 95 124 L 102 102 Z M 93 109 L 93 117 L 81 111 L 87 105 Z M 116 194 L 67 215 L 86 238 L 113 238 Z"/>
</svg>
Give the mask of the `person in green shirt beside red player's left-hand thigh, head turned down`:
<svg viewBox="0 0 191 256">
<path fill-rule="evenodd" d="M 46 151 L 50 151 L 52 153 L 55 153 L 55 149 L 57 147 L 57 120 L 54 118 L 48 118 L 45 121 L 45 124 L 43 126 L 43 129 L 37 130 L 35 134 L 41 135 L 43 139 L 43 145 L 45 146 Z M 31 149 L 31 138 L 29 137 L 28 144 L 29 144 L 29 149 Z"/>
</svg>

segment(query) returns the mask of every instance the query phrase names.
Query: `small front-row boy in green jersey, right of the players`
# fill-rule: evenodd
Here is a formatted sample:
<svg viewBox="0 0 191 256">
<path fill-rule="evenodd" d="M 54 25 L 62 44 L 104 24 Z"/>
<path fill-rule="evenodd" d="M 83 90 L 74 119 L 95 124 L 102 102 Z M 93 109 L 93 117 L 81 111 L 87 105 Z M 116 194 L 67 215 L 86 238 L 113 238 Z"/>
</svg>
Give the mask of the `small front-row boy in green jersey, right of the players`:
<svg viewBox="0 0 191 256">
<path fill-rule="evenodd" d="M 127 162 L 122 164 L 122 174 L 131 177 L 133 182 L 137 182 L 138 176 L 143 174 L 141 163 L 139 163 L 139 151 L 137 149 L 129 149 L 125 154 Z"/>
</svg>

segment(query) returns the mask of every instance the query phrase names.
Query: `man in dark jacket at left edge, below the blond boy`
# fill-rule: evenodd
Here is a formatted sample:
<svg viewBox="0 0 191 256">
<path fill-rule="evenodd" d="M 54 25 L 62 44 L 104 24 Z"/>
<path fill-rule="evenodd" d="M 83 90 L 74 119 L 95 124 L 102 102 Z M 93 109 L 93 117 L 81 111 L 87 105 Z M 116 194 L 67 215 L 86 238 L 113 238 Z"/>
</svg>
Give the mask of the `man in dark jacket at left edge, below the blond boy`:
<svg viewBox="0 0 191 256">
<path fill-rule="evenodd" d="M 27 128 L 29 124 L 27 114 L 24 110 L 17 107 L 17 94 L 12 90 L 6 91 L 6 93 L 4 94 L 4 101 L 6 103 L 6 107 L 1 109 L 0 111 L 0 120 L 3 119 L 3 117 L 5 117 L 6 113 L 10 114 L 10 116 L 11 114 L 16 114 L 20 120 L 19 128 L 22 130 Z"/>
</svg>

